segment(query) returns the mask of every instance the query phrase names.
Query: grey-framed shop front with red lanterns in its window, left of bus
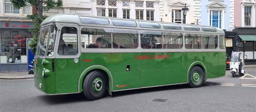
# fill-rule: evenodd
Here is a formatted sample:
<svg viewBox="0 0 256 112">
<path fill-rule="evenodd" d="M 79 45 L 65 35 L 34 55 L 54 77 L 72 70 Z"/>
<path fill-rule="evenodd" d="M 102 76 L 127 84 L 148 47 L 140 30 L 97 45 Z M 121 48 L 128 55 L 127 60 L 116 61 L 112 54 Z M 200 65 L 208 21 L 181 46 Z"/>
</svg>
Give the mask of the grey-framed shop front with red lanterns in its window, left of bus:
<svg viewBox="0 0 256 112">
<path fill-rule="evenodd" d="M 31 28 L 32 22 L 0 21 L 0 72 L 28 71 Z"/>
</svg>

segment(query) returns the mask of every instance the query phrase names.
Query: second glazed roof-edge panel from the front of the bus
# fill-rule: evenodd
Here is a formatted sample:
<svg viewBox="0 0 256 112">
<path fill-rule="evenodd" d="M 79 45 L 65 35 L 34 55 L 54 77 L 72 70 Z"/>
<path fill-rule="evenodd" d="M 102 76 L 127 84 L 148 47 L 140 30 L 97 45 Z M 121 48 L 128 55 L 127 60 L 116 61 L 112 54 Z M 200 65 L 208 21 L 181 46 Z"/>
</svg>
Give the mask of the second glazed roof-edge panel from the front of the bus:
<svg viewBox="0 0 256 112">
<path fill-rule="evenodd" d="M 125 26 L 125 27 L 137 27 L 137 23 L 133 20 L 117 20 L 111 19 L 112 23 L 117 26 Z"/>
</svg>

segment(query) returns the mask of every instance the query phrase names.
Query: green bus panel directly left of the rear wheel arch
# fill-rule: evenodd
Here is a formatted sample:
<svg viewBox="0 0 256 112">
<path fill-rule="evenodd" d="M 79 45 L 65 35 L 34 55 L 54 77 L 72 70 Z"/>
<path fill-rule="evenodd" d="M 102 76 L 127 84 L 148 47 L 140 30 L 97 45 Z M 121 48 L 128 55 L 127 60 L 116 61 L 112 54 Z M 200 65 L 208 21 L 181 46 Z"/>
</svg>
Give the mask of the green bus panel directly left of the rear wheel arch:
<svg viewBox="0 0 256 112">
<path fill-rule="evenodd" d="M 185 83 L 187 81 L 187 68 L 184 63 L 184 53 L 165 53 L 170 55 L 164 61 L 164 85 Z"/>
</svg>

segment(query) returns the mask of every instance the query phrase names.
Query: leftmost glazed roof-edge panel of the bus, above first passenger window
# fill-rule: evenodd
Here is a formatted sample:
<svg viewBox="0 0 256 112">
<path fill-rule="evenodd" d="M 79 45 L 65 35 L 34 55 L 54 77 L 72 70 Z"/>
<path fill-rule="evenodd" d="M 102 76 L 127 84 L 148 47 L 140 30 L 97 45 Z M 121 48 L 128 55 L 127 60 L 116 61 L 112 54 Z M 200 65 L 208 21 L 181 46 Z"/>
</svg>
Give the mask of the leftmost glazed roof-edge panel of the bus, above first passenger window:
<svg viewBox="0 0 256 112">
<path fill-rule="evenodd" d="M 79 16 L 82 23 L 88 23 L 88 24 L 104 24 L 108 25 L 109 21 L 107 18 L 99 18 L 99 17 L 85 17 L 85 16 Z"/>
</svg>

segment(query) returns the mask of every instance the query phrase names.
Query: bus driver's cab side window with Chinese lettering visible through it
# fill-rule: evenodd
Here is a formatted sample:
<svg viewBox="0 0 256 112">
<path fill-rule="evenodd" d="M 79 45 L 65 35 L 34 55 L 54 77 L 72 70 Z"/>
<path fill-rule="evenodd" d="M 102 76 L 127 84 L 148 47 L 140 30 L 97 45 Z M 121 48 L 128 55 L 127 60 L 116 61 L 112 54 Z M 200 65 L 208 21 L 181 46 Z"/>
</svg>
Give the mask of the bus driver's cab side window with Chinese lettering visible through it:
<svg viewBox="0 0 256 112">
<path fill-rule="evenodd" d="M 58 54 L 59 55 L 77 55 L 78 41 L 77 28 L 62 27 L 59 37 Z"/>
</svg>

